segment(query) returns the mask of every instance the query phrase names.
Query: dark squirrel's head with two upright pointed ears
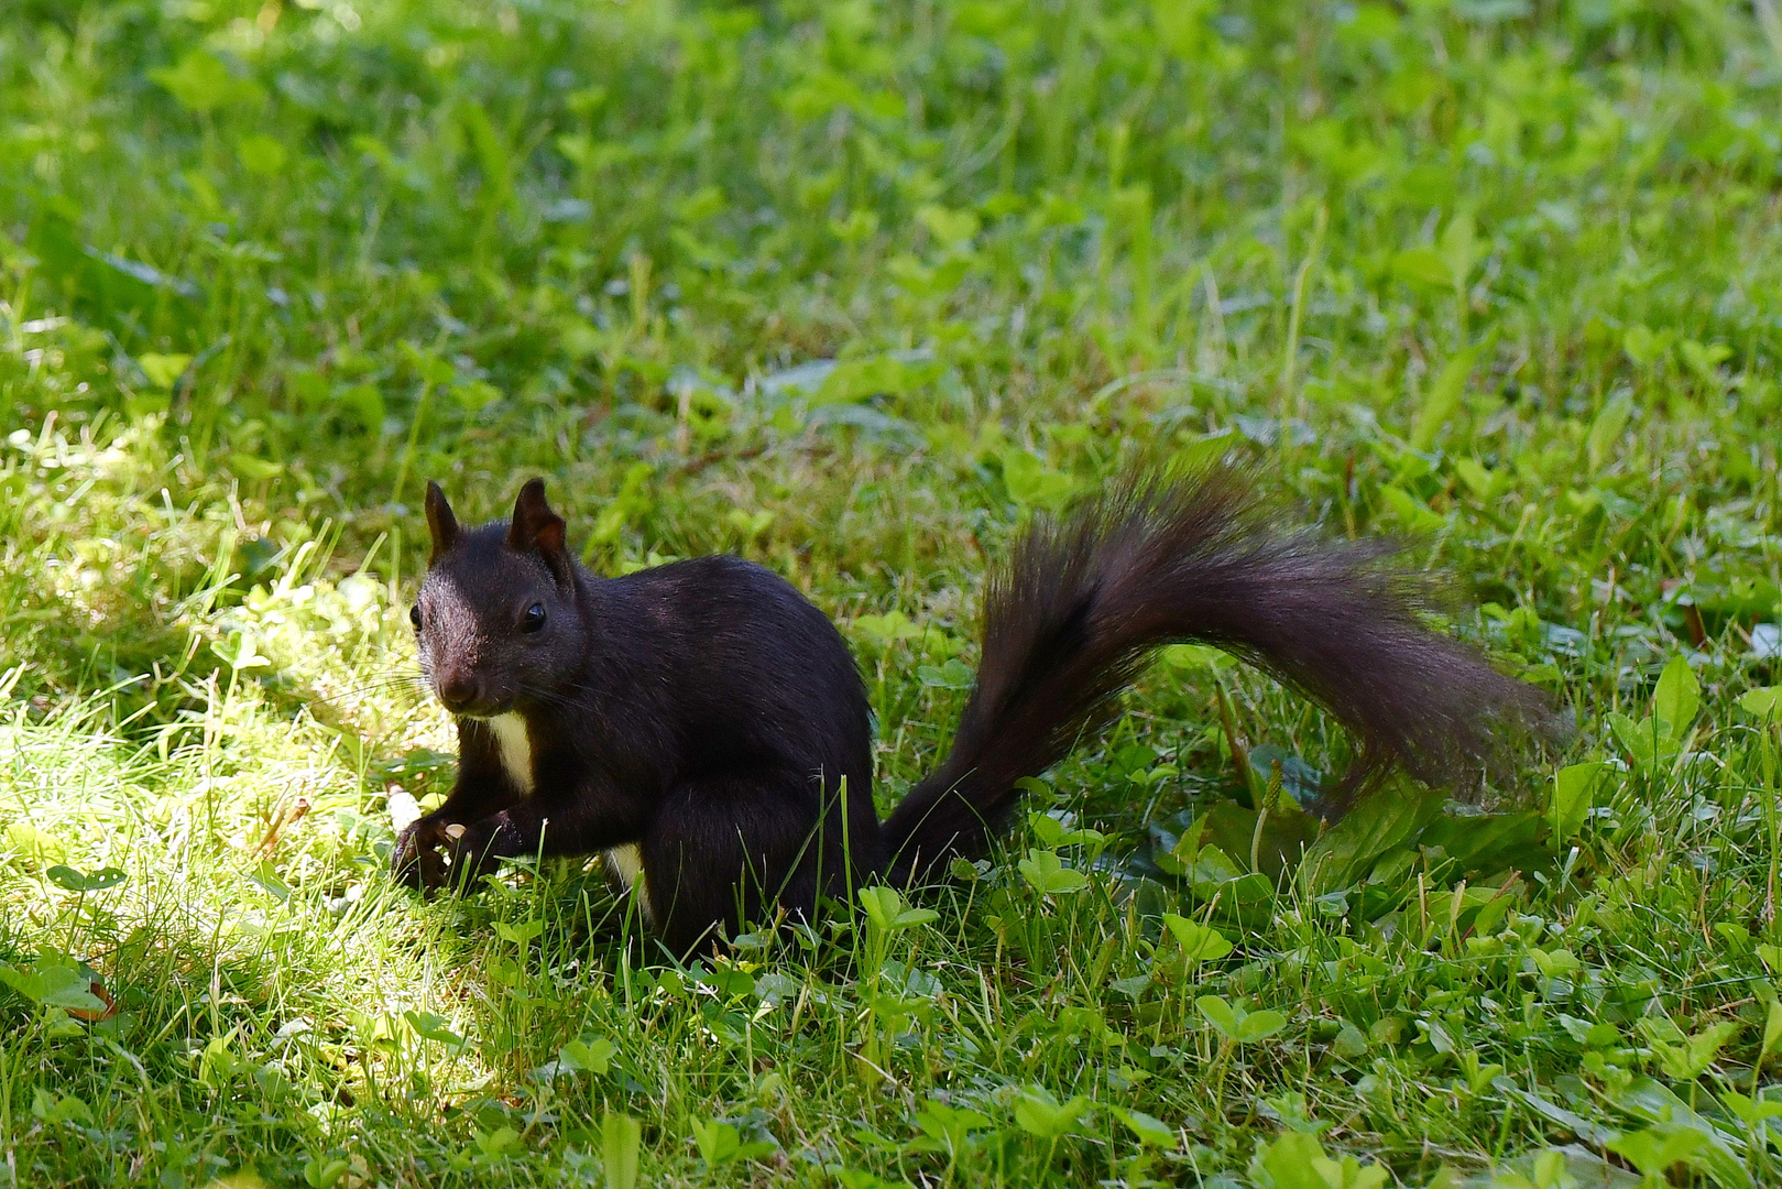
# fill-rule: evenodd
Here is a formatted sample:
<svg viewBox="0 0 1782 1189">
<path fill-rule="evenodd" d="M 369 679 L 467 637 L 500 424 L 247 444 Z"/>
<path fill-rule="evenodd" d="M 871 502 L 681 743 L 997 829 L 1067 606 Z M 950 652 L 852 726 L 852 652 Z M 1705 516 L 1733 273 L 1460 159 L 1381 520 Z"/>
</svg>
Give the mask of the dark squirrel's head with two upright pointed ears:
<svg viewBox="0 0 1782 1189">
<path fill-rule="evenodd" d="M 408 619 L 421 670 L 454 715 L 488 718 L 527 701 L 561 699 L 584 654 L 588 624 L 576 563 L 544 480 L 520 488 L 513 519 L 463 529 L 428 483 L 433 556 Z"/>
</svg>

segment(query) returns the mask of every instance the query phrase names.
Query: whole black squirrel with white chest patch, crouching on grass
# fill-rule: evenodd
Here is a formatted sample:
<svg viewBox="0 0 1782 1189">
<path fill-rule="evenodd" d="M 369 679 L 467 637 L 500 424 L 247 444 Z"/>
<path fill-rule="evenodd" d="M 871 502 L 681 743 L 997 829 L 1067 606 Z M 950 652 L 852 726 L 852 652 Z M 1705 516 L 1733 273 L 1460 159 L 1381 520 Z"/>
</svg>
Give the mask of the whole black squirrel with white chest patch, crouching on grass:
<svg viewBox="0 0 1782 1189">
<path fill-rule="evenodd" d="M 1256 665 L 1358 736 L 1331 820 L 1392 767 L 1475 777 L 1552 722 L 1540 692 L 1420 622 L 1426 585 L 1390 544 L 1283 524 L 1231 465 L 1135 472 L 1037 517 L 991 574 L 952 752 L 880 822 L 861 672 L 786 579 L 732 556 L 599 578 L 542 480 L 506 524 L 460 528 L 437 483 L 426 513 L 410 617 L 458 717 L 458 781 L 401 834 L 396 873 L 435 888 L 504 857 L 606 852 L 675 954 L 982 852 L 1018 781 L 1101 726 L 1171 642 Z"/>
</svg>

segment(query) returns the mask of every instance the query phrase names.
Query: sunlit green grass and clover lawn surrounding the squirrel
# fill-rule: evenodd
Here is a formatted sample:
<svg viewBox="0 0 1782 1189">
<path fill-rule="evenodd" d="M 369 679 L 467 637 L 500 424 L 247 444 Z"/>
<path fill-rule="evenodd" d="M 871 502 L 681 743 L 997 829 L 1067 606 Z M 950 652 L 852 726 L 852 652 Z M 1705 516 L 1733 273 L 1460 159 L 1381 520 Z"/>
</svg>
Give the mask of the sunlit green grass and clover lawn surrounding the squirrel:
<svg viewBox="0 0 1782 1189">
<path fill-rule="evenodd" d="M 1775 1184 L 1778 112 L 1770 0 L 7 5 L 0 1184 Z M 426 478 L 786 574 L 887 806 L 1140 449 L 1415 537 L 1575 743 L 1319 838 L 1183 651 L 932 920 L 390 886 Z"/>
</svg>

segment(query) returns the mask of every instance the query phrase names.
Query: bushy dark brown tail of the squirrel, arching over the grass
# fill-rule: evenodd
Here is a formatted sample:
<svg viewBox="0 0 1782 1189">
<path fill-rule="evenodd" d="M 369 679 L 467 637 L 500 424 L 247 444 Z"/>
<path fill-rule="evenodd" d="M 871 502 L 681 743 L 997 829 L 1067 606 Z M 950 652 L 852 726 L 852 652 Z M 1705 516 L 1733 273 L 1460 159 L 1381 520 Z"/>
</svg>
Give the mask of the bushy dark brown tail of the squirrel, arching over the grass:
<svg viewBox="0 0 1782 1189">
<path fill-rule="evenodd" d="M 989 579 L 952 754 L 886 824 L 895 872 L 918 879 L 982 852 L 1016 806 L 1016 781 L 1062 759 L 1174 642 L 1240 656 L 1358 736 L 1328 816 L 1394 765 L 1431 784 L 1475 777 L 1502 752 L 1504 727 L 1543 727 L 1552 713 L 1538 690 L 1426 627 L 1427 585 L 1392 567 L 1392 553 L 1283 526 L 1226 465 L 1137 476 L 1037 521 Z"/>
</svg>

